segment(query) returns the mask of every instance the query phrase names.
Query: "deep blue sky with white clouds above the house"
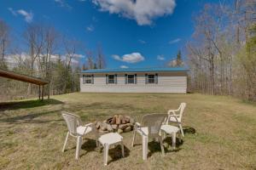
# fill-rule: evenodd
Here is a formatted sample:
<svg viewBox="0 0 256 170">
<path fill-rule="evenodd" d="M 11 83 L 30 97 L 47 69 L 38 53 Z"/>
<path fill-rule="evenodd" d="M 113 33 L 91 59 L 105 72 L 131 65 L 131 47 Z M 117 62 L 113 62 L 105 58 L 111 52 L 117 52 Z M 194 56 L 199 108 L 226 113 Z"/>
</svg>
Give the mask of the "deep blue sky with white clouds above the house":
<svg viewBox="0 0 256 170">
<path fill-rule="evenodd" d="M 100 43 L 108 68 L 152 67 L 175 59 L 194 31 L 193 14 L 213 2 L 218 0 L 2 0 L 0 18 L 14 37 L 43 22 L 87 49 L 96 51 Z"/>
</svg>

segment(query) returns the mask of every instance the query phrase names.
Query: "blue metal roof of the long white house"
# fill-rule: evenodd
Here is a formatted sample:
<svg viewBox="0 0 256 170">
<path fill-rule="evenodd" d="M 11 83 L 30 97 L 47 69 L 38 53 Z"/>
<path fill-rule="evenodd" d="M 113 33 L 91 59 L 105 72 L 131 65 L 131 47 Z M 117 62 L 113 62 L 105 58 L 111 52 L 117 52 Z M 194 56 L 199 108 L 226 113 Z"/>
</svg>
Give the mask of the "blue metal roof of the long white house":
<svg viewBox="0 0 256 170">
<path fill-rule="evenodd" d="M 153 67 L 153 68 L 118 68 L 118 69 L 94 69 L 81 71 L 82 73 L 107 73 L 107 72 L 160 72 L 160 71 L 189 71 L 184 67 Z"/>
</svg>

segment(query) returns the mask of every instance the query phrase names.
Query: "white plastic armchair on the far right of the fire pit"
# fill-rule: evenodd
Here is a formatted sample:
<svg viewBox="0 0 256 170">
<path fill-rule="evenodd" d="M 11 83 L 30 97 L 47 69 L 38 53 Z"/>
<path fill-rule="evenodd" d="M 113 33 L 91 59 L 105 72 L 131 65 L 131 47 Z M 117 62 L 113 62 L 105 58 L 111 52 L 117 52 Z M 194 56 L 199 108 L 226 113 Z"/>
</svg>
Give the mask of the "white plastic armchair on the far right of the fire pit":
<svg viewBox="0 0 256 170">
<path fill-rule="evenodd" d="M 177 110 L 169 110 L 168 118 L 166 121 L 166 124 L 168 124 L 168 122 L 177 123 L 178 127 L 181 130 L 183 137 L 184 137 L 184 132 L 183 132 L 183 126 L 182 126 L 182 117 L 183 117 L 183 111 L 184 111 L 186 105 L 187 105 L 186 103 L 181 103 Z"/>
</svg>

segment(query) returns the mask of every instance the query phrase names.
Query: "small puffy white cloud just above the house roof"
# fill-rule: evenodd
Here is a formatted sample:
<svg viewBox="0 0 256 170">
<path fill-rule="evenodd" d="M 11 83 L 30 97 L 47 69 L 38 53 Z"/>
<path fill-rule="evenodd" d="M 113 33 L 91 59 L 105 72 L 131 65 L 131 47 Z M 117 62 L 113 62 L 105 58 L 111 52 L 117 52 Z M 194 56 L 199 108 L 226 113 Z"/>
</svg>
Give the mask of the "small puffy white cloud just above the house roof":
<svg viewBox="0 0 256 170">
<path fill-rule="evenodd" d="M 120 57 L 119 55 L 113 54 L 112 57 L 113 59 L 123 61 L 126 63 L 137 63 L 144 60 L 143 55 L 140 53 L 125 54 L 122 57 Z"/>
</svg>

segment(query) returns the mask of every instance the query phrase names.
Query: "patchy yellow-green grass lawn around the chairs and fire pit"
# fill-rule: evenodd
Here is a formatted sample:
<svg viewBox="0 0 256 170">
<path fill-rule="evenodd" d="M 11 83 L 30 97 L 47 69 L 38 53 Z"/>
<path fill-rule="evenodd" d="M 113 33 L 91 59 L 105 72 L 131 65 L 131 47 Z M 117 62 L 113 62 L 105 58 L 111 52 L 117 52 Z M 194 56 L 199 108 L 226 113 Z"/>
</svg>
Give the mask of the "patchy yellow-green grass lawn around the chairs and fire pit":
<svg viewBox="0 0 256 170">
<path fill-rule="evenodd" d="M 148 144 L 148 161 L 142 158 L 142 139 L 131 148 L 132 133 L 122 133 L 120 148 L 109 151 L 108 166 L 93 136 L 84 139 L 79 161 L 76 141 L 67 133 L 61 111 L 71 111 L 82 121 L 104 120 L 125 114 L 141 120 L 144 114 L 166 113 L 187 103 L 183 115 L 185 137 L 177 149 L 171 139 Z M 170 145 L 170 146 L 168 146 Z M 202 94 L 65 94 L 44 102 L 26 100 L 0 105 L 0 169 L 256 169 L 256 105 L 239 99 Z"/>
</svg>

